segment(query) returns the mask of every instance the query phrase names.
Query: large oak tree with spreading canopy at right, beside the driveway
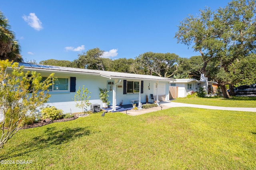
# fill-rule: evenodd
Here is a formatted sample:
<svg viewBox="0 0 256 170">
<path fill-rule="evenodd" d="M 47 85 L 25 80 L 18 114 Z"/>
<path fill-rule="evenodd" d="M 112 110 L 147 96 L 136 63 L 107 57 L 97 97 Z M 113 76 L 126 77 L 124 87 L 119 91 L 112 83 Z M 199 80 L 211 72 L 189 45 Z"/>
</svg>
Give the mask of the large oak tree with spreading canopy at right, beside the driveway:
<svg viewBox="0 0 256 170">
<path fill-rule="evenodd" d="M 220 84 L 225 98 L 229 98 L 225 84 L 233 83 L 229 67 L 255 53 L 255 11 L 255 0 L 233 0 L 216 11 L 200 10 L 178 26 L 178 42 L 200 52 L 204 61 L 201 72 Z"/>
</svg>

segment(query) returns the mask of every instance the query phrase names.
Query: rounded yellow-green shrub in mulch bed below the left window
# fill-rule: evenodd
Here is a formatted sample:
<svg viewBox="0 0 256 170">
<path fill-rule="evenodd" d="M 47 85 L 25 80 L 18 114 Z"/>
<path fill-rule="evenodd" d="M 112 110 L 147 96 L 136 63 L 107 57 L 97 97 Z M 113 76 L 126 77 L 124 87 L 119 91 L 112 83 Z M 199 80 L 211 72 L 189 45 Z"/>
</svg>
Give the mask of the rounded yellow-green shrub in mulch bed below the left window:
<svg viewBox="0 0 256 170">
<path fill-rule="evenodd" d="M 57 109 L 56 107 L 45 107 L 41 111 L 43 119 L 50 118 L 52 120 L 57 120 L 62 118 L 63 110 Z"/>
</svg>

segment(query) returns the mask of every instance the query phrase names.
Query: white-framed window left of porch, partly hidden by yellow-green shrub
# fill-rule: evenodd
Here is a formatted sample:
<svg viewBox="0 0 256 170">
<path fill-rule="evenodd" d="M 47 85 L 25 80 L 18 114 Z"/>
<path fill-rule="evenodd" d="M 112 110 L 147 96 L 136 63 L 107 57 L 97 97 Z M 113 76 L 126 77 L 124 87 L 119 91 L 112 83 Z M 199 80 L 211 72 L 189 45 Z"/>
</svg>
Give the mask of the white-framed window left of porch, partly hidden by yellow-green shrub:
<svg viewBox="0 0 256 170">
<path fill-rule="evenodd" d="M 46 80 L 46 77 L 43 77 L 41 81 Z M 52 86 L 48 87 L 50 92 L 58 92 L 58 91 L 68 91 L 68 78 L 58 78 L 52 83 Z"/>
</svg>

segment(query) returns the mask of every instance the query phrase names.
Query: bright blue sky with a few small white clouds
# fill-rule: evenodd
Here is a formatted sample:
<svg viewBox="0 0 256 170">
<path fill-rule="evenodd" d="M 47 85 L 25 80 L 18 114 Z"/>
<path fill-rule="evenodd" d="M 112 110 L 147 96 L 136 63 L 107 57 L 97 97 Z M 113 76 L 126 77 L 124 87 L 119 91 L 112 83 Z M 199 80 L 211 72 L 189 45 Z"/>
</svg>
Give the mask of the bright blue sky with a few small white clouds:
<svg viewBox="0 0 256 170">
<path fill-rule="evenodd" d="M 15 32 L 25 61 L 73 61 L 93 48 L 110 59 L 152 51 L 199 55 L 174 38 L 188 14 L 230 0 L 8 0 L 0 10 Z"/>
</svg>

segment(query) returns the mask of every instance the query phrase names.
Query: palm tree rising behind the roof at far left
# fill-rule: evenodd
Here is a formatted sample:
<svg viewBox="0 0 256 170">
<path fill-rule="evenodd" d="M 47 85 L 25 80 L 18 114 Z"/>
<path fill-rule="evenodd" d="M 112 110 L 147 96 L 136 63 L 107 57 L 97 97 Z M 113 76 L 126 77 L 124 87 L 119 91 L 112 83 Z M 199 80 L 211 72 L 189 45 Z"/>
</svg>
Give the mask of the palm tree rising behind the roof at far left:
<svg viewBox="0 0 256 170">
<path fill-rule="evenodd" d="M 10 28 L 7 18 L 0 11 L 0 59 L 23 61 L 20 55 L 20 45 L 15 40 L 15 34 Z"/>
</svg>

